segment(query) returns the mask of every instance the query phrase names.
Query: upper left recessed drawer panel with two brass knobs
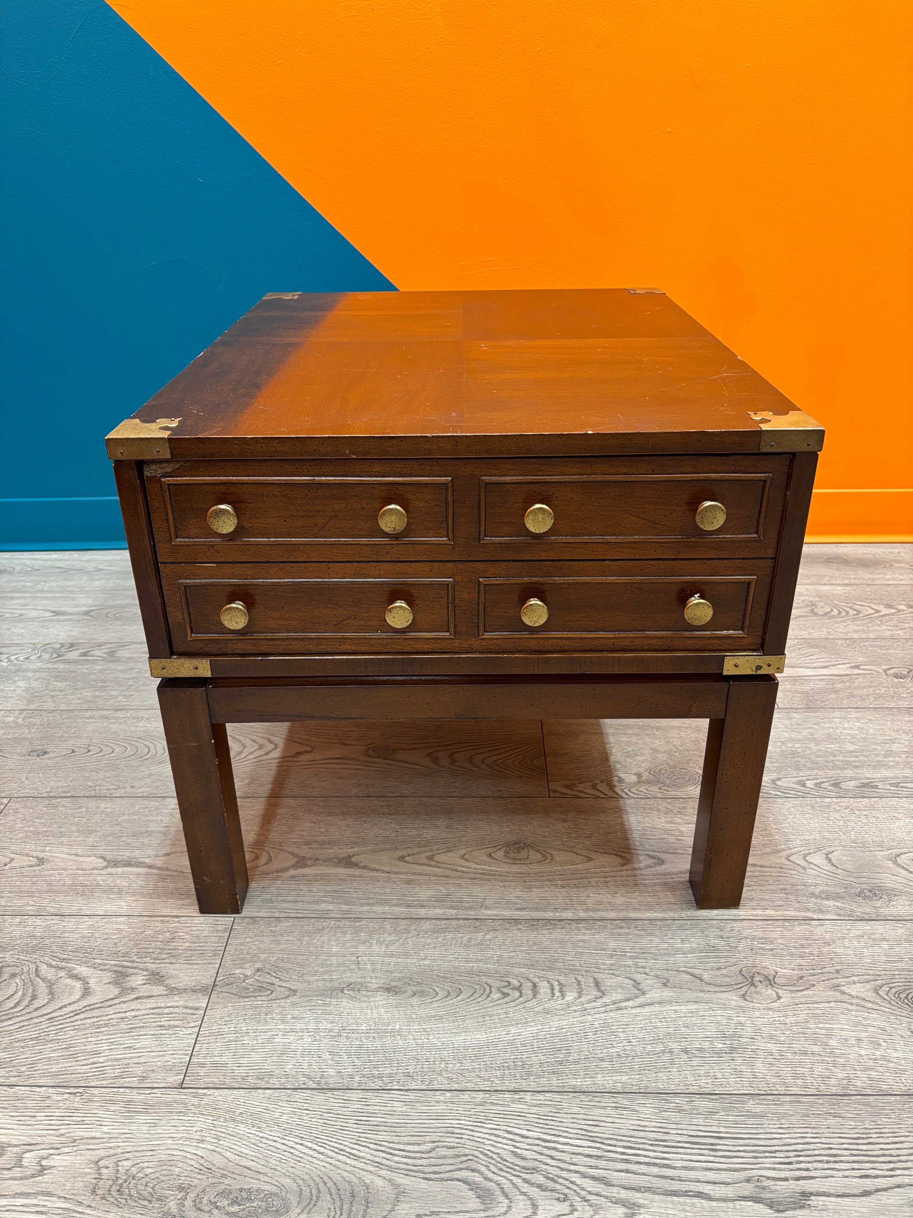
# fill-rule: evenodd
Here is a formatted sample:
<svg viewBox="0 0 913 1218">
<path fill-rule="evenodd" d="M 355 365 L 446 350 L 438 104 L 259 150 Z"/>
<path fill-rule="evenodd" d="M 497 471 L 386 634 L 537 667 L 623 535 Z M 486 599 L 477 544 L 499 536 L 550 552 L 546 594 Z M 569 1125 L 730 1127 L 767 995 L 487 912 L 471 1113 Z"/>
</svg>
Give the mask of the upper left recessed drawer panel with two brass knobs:
<svg viewBox="0 0 913 1218">
<path fill-rule="evenodd" d="M 370 549 L 448 546 L 453 538 L 453 480 L 416 476 L 415 465 L 409 476 L 359 476 L 351 473 L 351 464 L 345 474 L 297 474 L 291 463 L 269 473 L 263 462 L 247 469 L 233 463 L 237 473 L 219 476 L 206 464 L 185 463 L 173 475 L 150 481 L 159 547 L 205 546 L 228 557 L 239 549 L 273 551 L 290 543 Z"/>
</svg>

